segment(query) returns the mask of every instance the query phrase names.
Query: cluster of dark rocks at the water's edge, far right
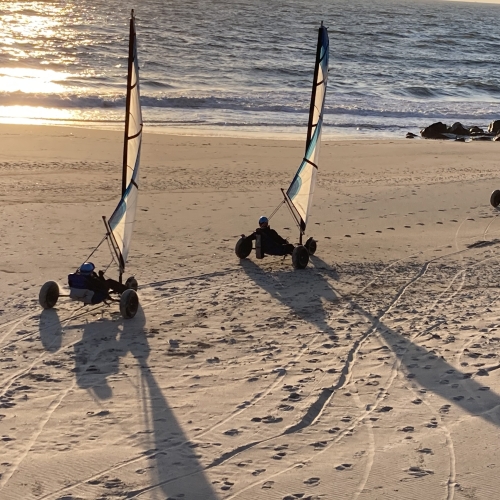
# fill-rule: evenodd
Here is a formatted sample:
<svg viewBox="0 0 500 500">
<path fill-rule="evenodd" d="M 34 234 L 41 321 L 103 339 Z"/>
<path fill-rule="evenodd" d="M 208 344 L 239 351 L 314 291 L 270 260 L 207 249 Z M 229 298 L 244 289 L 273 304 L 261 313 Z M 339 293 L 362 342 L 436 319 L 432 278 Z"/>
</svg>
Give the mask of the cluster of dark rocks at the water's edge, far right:
<svg viewBox="0 0 500 500">
<path fill-rule="evenodd" d="M 420 131 L 423 139 L 445 139 L 454 141 L 500 141 L 500 120 L 491 122 L 488 130 L 480 127 L 464 127 L 460 122 L 456 122 L 451 127 L 442 122 L 433 123 Z M 407 139 L 417 137 L 408 132 Z"/>
</svg>

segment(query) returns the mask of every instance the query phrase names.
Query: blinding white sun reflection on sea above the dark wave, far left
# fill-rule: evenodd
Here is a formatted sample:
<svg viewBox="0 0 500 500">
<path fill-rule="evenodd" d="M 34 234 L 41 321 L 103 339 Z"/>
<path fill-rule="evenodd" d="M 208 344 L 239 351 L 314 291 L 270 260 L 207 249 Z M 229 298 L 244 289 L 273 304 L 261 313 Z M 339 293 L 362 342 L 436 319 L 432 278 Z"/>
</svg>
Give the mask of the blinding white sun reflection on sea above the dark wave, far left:
<svg viewBox="0 0 500 500">
<path fill-rule="evenodd" d="M 59 93 L 70 73 L 48 69 L 0 68 L 0 92 Z"/>
</svg>

